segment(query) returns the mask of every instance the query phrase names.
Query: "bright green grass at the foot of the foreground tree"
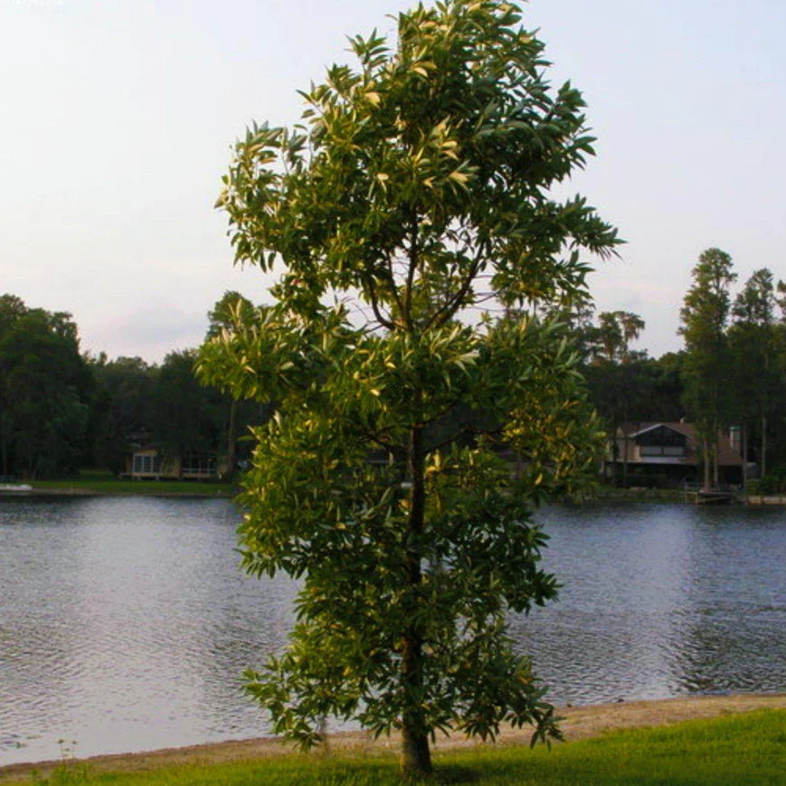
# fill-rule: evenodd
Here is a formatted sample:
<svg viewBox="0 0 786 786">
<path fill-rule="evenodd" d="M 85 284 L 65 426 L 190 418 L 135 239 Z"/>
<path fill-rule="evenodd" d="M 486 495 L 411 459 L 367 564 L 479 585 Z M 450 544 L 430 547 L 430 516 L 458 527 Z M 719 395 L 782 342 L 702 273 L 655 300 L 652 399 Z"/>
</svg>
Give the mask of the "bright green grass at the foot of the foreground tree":
<svg viewBox="0 0 786 786">
<path fill-rule="evenodd" d="M 530 751 L 521 745 L 453 749 L 434 756 L 429 783 L 507 784 L 777 784 L 786 783 L 786 710 L 634 729 Z M 0 781 L 2 782 L 2 781 Z M 396 786 L 393 754 L 282 755 L 256 761 L 170 766 L 147 772 L 92 772 L 64 764 L 38 784 L 111 783 L 322 784 Z"/>
</svg>

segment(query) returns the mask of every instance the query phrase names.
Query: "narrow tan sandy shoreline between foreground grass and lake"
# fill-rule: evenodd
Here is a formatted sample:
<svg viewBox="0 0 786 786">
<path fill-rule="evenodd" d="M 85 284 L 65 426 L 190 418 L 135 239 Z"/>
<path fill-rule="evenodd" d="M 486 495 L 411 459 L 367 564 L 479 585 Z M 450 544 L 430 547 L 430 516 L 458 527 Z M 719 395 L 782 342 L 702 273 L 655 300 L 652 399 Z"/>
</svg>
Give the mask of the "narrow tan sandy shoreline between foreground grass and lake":
<svg viewBox="0 0 786 786">
<path fill-rule="evenodd" d="M 620 702 L 607 705 L 560 707 L 562 728 L 567 740 L 592 737 L 617 729 L 674 724 L 694 718 L 749 712 L 756 709 L 786 709 L 786 694 L 739 694 L 734 696 L 690 696 L 653 701 Z M 529 743 L 527 729 L 506 730 L 500 743 Z M 445 749 L 483 744 L 453 736 L 438 739 L 435 748 Z M 374 741 L 363 732 L 331 734 L 327 741 L 330 750 L 397 749 L 395 736 Z M 291 747 L 275 738 L 231 740 L 223 743 L 188 745 L 164 748 L 144 753 L 114 753 L 93 756 L 80 761 L 89 762 L 93 772 L 134 772 L 154 770 L 173 764 L 217 764 L 221 762 L 260 759 L 289 753 Z M 18 781 L 31 772 L 46 775 L 62 762 L 26 762 L 0 767 L 0 782 Z"/>
</svg>

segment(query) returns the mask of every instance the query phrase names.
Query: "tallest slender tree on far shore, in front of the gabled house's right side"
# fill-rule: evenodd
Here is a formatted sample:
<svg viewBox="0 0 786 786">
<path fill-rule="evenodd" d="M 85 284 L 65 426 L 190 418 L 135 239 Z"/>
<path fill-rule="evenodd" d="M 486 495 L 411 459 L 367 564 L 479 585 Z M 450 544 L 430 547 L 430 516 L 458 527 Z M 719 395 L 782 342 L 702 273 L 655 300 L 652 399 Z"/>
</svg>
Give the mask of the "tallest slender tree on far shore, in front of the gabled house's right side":
<svg viewBox="0 0 786 786">
<path fill-rule="evenodd" d="M 732 271 L 732 258 L 715 248 L 699 256 L 692 272 L 694 283 L 680 311 L 679 333 L 686 346 L 686 402 L 704 443 L 704 485 L 709 488 L 710 463 L 718 485 L 718 431 L 728 425 L 730 359 L 725 328 L 731 307 L 729 287 L 737 276 Z"/>
</svg>

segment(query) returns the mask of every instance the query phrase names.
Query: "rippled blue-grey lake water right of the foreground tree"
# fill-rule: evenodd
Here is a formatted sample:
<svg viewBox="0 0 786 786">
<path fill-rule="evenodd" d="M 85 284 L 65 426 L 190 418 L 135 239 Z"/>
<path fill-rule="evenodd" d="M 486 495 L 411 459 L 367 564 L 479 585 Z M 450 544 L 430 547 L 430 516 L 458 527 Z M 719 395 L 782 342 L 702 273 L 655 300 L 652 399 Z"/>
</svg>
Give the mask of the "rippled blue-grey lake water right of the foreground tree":
<svg viewBox="0 0 786 786">
<path fill-rule="evenodd" d="M 786 688 L 786 511 L 628 505 L 542 517 L 561 602 L 513 628 L 554 701 Z"/>
</svg>

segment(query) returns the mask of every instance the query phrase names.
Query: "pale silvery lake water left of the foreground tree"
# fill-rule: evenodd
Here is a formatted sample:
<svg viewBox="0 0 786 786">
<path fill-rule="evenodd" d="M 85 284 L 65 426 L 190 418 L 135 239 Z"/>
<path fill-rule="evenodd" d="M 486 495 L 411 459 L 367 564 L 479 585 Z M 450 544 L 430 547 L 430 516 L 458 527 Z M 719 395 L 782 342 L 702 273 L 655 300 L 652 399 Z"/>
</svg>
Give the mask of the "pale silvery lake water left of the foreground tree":
<svg viewBox="0 0 786 786">
<path fill-rule="evenodd" d="M 88 755 L 265 732 L 241 671 L 283 645 L 294 585 L 240 573 L 229 503 L 0 516 L 0 762 L 56 756 L 60 738 Z"/>
</svg>

